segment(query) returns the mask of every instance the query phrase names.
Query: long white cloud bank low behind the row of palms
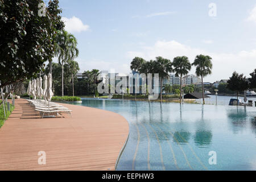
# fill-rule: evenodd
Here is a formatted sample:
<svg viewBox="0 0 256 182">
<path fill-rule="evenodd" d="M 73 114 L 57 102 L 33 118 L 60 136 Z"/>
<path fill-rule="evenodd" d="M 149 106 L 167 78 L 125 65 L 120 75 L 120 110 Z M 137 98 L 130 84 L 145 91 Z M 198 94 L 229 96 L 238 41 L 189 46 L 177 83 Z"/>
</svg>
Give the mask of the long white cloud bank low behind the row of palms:
<svg viewBox="0 0 256 182">
<path fill-rule="evenodd" d="M 176 56 L 187 56 L 191 63 L 195 60 L 196 55 L 209 55 L 212 57 L 213 73 L 205 78 L 206 81 L 216 81 L 221 79 L 228 79 L 232 76 L 234 71 L 244 73 L 247 77 L 249 73 L 256 68 L 256 49 L 251 51 L 240 51 L 238 53 L 216 53 L 208 52 L 204 49 L 192 48 L 172 41 L 157 41 L 154 45 L 148 47 L 141 47 L 140 51 L 127 52 L 129 60 L 135 56 L 143 57 L 146 60 L 154 60 L 156 56 L 163 56 L 167 59 L 173 60 Z M 195 74 L 195 68 L 191 70 Z"/>
</svg>

